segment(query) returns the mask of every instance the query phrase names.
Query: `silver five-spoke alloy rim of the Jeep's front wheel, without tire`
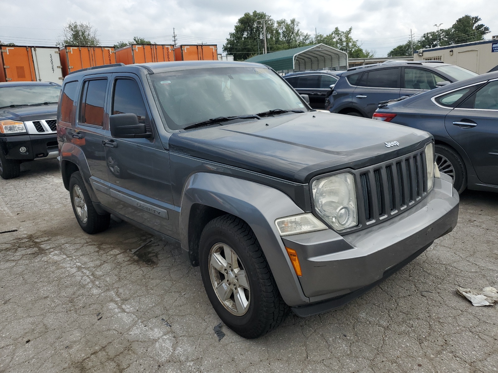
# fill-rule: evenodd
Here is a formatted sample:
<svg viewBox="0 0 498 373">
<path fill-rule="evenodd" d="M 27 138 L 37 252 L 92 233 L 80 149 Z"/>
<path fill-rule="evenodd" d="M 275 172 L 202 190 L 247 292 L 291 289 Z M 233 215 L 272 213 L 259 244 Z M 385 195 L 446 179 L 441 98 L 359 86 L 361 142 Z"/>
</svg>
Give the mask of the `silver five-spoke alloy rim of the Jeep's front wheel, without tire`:
<svg viewBox="0 0 498 373">
<path fill-rule="evenodd" d="M 244 266 L 232 248 L 224 243 L 213 245 L 209 253 L 209 276 L 218 299 L 233 315 L 249 310 L 250 288 Z"/>
</svg>

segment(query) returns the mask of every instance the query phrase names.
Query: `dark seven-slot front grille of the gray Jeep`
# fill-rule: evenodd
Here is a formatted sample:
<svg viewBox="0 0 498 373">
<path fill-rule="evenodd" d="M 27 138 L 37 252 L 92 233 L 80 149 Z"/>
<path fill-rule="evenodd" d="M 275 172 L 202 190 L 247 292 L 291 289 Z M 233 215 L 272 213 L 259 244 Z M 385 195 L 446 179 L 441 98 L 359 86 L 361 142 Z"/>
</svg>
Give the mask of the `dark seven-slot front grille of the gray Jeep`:
<svg viewBox="0 0 498 373">
<path fill-rule="evenodd" d="M 355 174 L 360 186 L 359 223 L 363 227 L 395 216 L 427 195 L 424 149 L 366 167 Z"/>
</svg>

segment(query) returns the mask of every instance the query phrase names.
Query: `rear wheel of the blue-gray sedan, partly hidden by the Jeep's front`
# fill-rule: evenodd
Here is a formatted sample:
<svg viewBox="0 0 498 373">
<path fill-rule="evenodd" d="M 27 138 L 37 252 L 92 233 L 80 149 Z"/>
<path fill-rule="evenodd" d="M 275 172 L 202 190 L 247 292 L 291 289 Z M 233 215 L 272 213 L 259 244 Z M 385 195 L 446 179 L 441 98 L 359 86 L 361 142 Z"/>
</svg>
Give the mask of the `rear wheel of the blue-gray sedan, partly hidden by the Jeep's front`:
<svg viewBox="0 0 498 373">
<path fill-rule="evenodd" d="M 462 158 L 446 145 L 436 145 L 434 153 L 439 172 L 451 176 L 453 187 L 459 194 L 462 193 L 467 188 L 467 170 Z"/>
</svg>

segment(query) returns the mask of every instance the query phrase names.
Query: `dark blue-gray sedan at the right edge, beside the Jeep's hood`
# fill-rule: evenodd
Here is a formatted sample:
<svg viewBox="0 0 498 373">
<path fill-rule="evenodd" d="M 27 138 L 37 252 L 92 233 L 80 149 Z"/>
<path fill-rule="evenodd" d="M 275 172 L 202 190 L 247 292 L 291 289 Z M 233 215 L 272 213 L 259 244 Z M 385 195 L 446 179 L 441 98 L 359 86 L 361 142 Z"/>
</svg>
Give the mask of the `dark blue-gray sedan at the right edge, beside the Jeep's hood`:
<svg viewBox="0 0 498 373">
<path fill-rule="evenodd" d="M 460 193 L 498 191 L 498 72 L 380 105 L 373 119 L 432 133 L 436 164 Z"/>
</svg>

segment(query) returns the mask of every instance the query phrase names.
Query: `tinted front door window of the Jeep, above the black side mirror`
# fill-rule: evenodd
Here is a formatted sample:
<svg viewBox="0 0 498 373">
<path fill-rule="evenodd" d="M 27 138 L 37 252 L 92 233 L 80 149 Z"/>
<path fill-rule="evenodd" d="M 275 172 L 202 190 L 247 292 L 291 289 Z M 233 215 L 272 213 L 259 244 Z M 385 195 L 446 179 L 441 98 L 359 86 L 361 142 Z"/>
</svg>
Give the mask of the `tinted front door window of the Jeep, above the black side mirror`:
<svg viewBox="0 0 498 373">
<path fill-rule="evenodd" d="M 114 85 L 113 114 L 123 113 L 135 114 L 138 122 L 144 123 L 146 127 L 149 124 L 142 93 L 133 79 L 117 79 Z"/>
</svg>

